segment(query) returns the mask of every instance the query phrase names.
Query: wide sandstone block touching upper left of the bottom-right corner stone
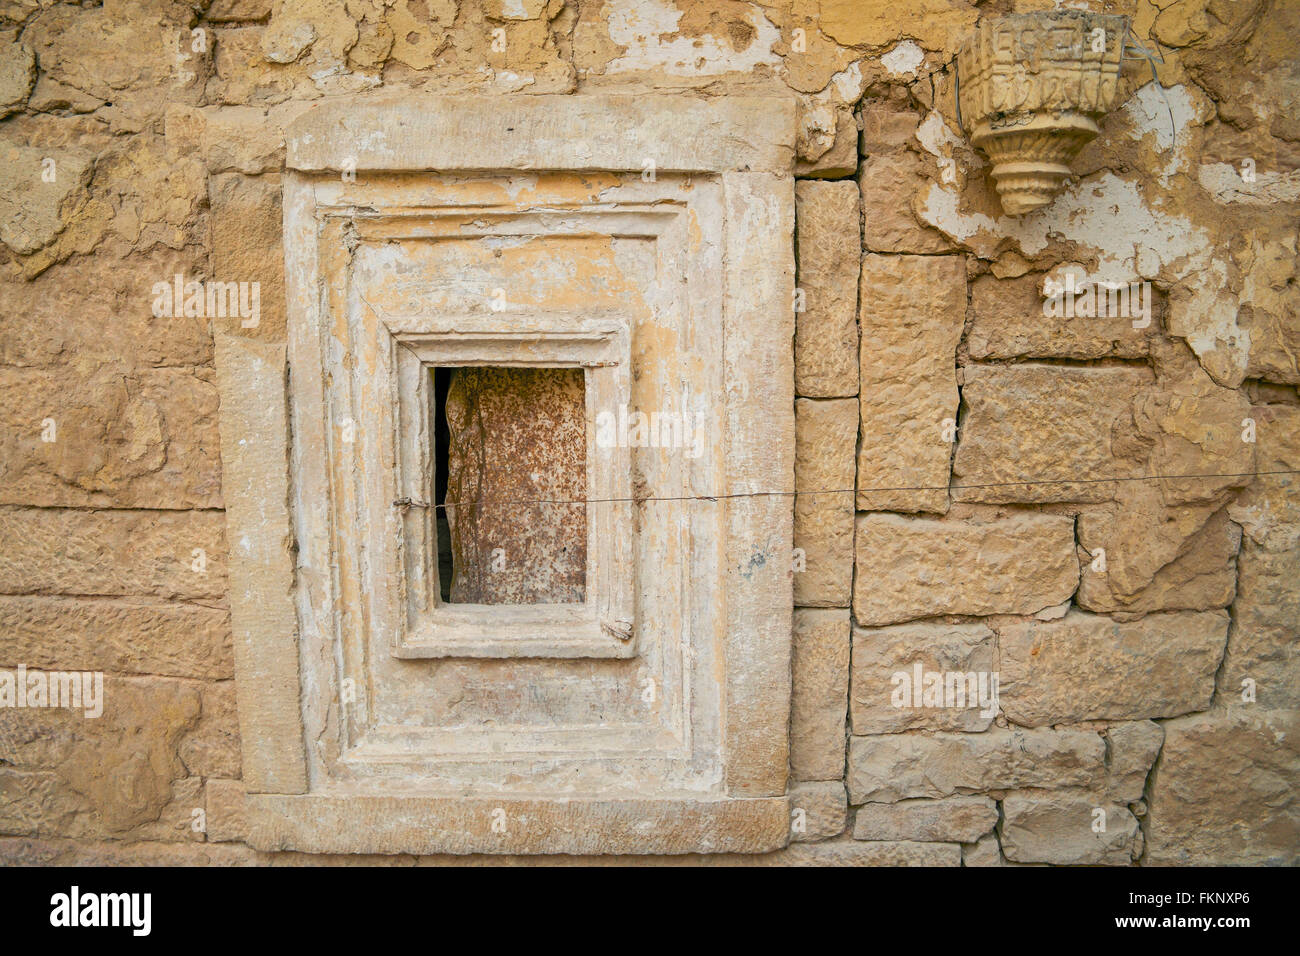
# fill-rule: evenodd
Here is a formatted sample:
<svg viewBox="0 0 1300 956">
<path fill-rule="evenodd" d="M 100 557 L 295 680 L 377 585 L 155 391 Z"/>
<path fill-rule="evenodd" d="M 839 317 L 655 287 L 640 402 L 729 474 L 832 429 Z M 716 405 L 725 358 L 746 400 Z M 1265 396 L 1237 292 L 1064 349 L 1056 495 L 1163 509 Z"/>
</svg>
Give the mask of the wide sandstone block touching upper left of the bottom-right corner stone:
<svg viewBox="0 0 1300 956">
<path fill-rule="evenodd" d="M 1071 611 L 998 628 L 1001 704 L 1026 727 L 1178 717 L 1209 706 L 1223 658 L 1223 611 L 1119 623 Z"/>
</svg>

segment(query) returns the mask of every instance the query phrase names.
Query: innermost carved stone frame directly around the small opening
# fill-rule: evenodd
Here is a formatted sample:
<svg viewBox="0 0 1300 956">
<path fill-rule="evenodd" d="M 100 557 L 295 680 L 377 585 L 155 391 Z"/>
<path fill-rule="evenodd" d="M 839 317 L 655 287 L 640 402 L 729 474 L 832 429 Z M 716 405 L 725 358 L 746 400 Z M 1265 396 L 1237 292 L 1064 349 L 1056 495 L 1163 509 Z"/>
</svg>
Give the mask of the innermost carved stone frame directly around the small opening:
<svg viewBox="0 0 1300 956">
<path fill-rule="evenodd" d="M 389 316 L 378 323 L 396 358 L 396 480 L 399 501 L 415 502 L 403 522 L 407 615 L 393 654 L 421 657 L 632 657 L 636 653 L 632 576 L 632 466 L 628 449 L 595 441 L 594 408 L 628 403 L 625 323 L 580 315 L 494 317 Z M 439 597 L 430 372 L 439 365 L 581 368 L 588 419 L 586 601 L 473 605 Z M 385 411 L 391 411 L 386 408 Z M 508 506 L 502 503 L 500 506 Z M 523 507 L 521 505 L 512 505 Z"/>
</svg>

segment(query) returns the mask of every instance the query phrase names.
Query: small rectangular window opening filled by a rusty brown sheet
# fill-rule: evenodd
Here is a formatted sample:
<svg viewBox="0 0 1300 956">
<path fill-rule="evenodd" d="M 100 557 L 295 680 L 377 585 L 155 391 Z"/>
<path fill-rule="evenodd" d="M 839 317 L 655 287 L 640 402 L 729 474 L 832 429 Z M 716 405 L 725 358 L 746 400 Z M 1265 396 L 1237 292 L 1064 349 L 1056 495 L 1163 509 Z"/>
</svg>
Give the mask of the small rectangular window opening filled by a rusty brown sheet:
<svg viewBox="0 0 1300 956">
<path fill-rule="evenodd" d="M 433 377 L 442 601 L 584 602 L 584 369 L 439 367 Z"/>
</svg>

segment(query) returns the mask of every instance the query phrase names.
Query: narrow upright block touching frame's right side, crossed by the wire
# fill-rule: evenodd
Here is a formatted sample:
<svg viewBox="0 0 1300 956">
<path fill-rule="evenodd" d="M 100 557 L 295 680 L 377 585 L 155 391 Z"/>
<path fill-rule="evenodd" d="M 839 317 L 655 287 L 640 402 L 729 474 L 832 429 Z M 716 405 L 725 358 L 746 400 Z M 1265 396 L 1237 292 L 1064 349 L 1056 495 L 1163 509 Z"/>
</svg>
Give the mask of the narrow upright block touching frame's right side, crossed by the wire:
<svg viewBox="0 0 1300 956">
<path fill-rule="evenodd" d="M 858 403 L 794 402 L 794 604 L 845 607 L 853 588 L 853 475 Z M 798 554 L 798 551 L 797 551 Z"/>
</svg>

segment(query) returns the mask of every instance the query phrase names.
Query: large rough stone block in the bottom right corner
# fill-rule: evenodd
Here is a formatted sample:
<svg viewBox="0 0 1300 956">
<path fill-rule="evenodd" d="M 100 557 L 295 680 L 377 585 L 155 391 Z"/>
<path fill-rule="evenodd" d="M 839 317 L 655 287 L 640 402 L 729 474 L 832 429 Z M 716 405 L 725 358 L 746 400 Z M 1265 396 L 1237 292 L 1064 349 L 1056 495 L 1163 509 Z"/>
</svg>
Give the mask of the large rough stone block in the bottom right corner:
<svg viewBox="0 0 1300 956">
<path fill-rule="evenodd" d="M 1300 864 L 1300 719 L 1247 705 L 1165 724 L 1144 862 Z"/>
</svg>

